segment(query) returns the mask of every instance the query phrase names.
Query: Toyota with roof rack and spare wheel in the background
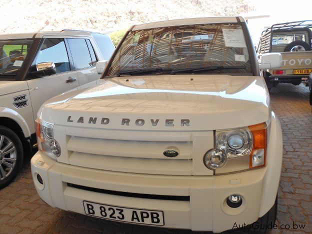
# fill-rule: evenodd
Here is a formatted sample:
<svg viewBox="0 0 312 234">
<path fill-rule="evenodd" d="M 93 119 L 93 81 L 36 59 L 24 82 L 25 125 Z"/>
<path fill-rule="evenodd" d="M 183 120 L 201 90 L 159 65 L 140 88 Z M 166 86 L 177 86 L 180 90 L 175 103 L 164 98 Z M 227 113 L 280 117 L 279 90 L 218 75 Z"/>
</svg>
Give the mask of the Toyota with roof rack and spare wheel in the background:
<svg viewBox="0 0 312 234">
<path fill-rule="evenodd" d="M 282 66 L 278 69 L 264 69 L 263 76 L 270 89 L 278 83 L 292 83 L 306 86 L 312 72 L 312 20 L 273 24 L 262 32 L 258 54 L 280 52 Z"/>
</svg>

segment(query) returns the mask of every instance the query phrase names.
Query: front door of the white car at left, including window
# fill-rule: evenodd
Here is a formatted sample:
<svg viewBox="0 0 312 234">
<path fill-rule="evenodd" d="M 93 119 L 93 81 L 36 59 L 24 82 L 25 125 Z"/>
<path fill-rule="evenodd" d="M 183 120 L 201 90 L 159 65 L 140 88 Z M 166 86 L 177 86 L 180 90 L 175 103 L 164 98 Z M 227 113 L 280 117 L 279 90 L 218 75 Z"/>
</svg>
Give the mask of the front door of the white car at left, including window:
<svg viewBox="0 0 312 234">
<path fill-rule="evenodd" d="M 77 72 L 74 71 L 69 58 L 63 38 L 44 38 L 31 67 L 40 62 L 54 62 L 56 73 L 43 77 L 28 75 L 27 83 L 34 118 L 44 101 L 79 85 Z"/>
</svg>

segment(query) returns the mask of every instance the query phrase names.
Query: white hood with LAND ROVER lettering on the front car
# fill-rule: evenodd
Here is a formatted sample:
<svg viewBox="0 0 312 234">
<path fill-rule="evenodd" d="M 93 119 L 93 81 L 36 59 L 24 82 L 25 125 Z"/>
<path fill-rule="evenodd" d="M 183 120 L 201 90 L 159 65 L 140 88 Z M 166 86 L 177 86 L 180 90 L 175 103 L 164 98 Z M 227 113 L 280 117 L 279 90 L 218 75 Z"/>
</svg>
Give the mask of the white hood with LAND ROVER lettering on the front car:
<svg viewBox="0 0 312 234">
<path fill-rule="evenodd" d="M 269 95 L 260 76 L 124 76 L 89 86 L 93 87 L 48 100 L 39 118 L 59 125 L 107 129 L 211 130 L 265 122 L 270 113 Z M 107 124 L 102 124 L 102 118 L 109 122 L 106 119 Z M 129 125 L 121 124 L 123 118 L 129 119 Z M 141 120 L 135 123 L 136 119 L 143 119 L 143 124 Z M 181 119 L 188 119 L 189 124 L 181 124 Z"/>
</svg>

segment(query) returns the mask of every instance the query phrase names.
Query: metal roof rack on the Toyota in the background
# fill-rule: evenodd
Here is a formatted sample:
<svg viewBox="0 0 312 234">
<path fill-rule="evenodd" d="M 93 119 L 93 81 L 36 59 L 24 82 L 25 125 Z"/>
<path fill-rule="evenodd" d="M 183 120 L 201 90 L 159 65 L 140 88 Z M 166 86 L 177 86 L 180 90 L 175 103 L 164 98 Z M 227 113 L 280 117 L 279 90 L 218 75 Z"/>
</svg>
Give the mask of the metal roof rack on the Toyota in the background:
<svg viewBox="0 0 312 234">
<path fill-rule="evenodd" d="M 266 53 L 271 50 L 272 44 L 272 32 L 276 30 L 291 30 L 293 28 L 310 28 L 312 30 L 312 20 L 300 20 L 300 21 L 293 21 L 293 22 L 284 22 L 284 23 L 276 23 L 272 26 L 266 28 L 266 30 L 262 31 L 261 37 L 259 40 L 259 44 L 257 47 L 257 52 Z"/>
</svg>

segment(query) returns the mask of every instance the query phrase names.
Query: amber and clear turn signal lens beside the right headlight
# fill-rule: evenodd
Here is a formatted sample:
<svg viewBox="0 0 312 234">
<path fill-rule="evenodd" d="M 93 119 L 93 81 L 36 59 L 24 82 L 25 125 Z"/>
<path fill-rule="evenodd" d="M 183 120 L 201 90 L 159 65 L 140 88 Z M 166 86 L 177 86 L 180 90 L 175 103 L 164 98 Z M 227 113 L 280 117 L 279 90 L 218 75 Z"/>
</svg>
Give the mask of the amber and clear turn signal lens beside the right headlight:
<svg viewBox="0 0 312 234">
<path fill-rule="evenodd" d="M 266 162 L 266 144 L 267 144 L 267 126 L 259 123 L 248 126 L 252 133 L 253 146 L 249 158 L 249 168 L 258 168 L 265 166 Z"/>
</svg>

